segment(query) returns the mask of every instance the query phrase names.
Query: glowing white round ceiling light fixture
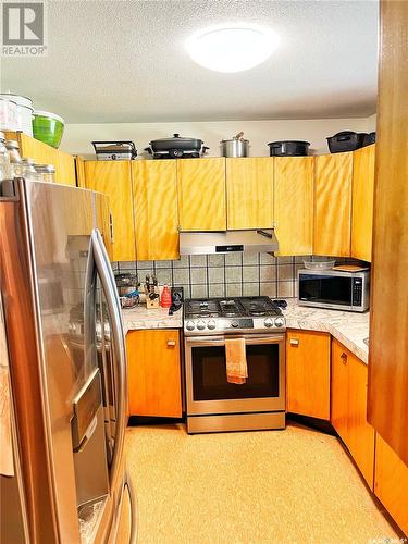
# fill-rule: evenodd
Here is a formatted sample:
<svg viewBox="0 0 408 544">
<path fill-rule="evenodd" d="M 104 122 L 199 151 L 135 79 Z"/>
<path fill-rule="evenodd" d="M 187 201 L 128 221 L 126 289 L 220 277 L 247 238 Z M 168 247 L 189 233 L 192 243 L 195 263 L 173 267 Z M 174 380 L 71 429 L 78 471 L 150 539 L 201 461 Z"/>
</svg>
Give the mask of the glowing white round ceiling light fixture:
<svg viewBox="0 0 408 544">
<path fill-rule="evenodd" d="M 277 44 L 275 34 L 259 25 L 237 23 L 203 28 L 185 48 L 190 58 L 215 72 L 243 72 L 264 62 Z"/>
</svg>

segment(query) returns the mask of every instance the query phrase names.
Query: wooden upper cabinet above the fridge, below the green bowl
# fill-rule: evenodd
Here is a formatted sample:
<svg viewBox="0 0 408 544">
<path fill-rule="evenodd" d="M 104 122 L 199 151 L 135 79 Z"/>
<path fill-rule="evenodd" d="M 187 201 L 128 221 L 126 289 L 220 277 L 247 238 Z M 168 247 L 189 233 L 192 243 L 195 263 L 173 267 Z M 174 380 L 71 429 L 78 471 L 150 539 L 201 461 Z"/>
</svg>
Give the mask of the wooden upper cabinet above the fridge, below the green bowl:
<svg viewBox="0 0 408 544">
<path fill-rule="evenodd" d="M 74 157 L 21 132 L 5 133 L 5 137 L 18 141 L 21 157 L 29 157 L 36 164 L 53 164 L 55 183 L 76 187 Z"/>
</svg>

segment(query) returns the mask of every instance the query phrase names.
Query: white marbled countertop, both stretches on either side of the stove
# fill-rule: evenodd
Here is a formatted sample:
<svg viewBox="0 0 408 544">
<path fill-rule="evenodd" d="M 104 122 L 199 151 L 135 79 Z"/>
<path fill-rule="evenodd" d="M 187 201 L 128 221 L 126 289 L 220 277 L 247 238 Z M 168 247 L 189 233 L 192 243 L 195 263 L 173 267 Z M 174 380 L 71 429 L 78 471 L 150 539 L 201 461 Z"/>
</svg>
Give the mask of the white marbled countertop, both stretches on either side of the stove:
<svg viewBox="0 0 408 544">
<path fill-rule="evenodd" d="M 298 306 L 288 300 L 283 311 L 287 329 L 329 332 L 353 354 L 368 363 L 369 350 L 363 339 L 369 336 L 369 312 L 356 313 Z M 168 308 L 148 310 L 146 306 L 122 310 L 123 326 L 127 331 L 140 329 L 183 329 L 183 309 L 169 316 Z"/>
</svg>

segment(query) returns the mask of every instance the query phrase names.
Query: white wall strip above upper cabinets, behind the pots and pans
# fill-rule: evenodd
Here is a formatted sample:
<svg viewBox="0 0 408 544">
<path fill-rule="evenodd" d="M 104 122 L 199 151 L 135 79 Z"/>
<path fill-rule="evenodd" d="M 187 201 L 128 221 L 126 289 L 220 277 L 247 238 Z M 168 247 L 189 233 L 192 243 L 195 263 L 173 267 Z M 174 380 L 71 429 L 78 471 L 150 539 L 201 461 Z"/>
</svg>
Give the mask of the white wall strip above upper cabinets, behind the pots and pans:
<svg viewBox="0 0 408 544">
<path fill-rule="evenodd" d="M 181 136 L 202 139 L 210 147 L 208 154 L 217 157 L 220 154 L 220 140 L 231 138 L 239 131 L 244 131 L 245 137 L 249 139 L 252 157 L 268 156 L 268 143 L 282 139 L 310 141 L 310 154 L 320 154 L 329 152 L 325 138 L 337 132 L 375 131 L 375 115 L 363 119 L 69 124 L 61 149 L 91 159 L 95 158 L 91 140 L 131 139 L 140 156 L 150 140 L 178 133 Z"/>
</svg>

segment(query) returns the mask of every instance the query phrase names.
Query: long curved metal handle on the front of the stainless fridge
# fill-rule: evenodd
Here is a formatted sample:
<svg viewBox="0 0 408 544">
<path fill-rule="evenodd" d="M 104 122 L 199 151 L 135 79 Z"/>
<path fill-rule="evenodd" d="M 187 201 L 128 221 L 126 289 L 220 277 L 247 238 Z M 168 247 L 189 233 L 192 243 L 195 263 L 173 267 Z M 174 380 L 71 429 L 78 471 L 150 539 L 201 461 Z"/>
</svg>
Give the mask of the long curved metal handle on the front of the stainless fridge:
<svg viewBox="0 0 408 544">
<path fill-rule="evenodd" d="M 92 232 L 91 240 L 96 268 L 104 292 L 108 310 L 112 319 L 111 334 L 113 341 L 113 357 L 116 364 L 116 435 L 110 473 L 111 486 L 114 486 L 122 460 L 127 420 L 126 355 L 116 286 L 108 256 L 106 255 L 103 242 L 101 240 L 100 233 L 97 228 Z"/>
</svg>

